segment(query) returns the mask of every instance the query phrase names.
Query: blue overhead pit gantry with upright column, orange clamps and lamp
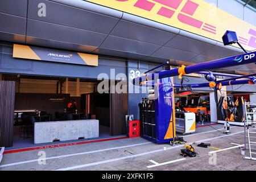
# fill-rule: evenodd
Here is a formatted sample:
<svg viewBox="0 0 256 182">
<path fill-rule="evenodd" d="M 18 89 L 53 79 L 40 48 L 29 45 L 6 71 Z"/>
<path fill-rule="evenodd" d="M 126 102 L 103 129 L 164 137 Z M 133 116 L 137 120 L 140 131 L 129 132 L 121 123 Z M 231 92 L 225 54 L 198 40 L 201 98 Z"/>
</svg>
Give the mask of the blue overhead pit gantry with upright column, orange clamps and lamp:
<svg viewBox="0 0 256 182">
<path fill-rule="evenodd" d="M 224 45 L 230 45 L 237 43 L 242 48 L 241 44 L 238 43 L 236 32 L 226 31 L 225 35 L 222 37 L 224 40 Z M 243 49 L 243 48 L 242 48 Z M 156 137 L 148 137 L 147 135 L 142 135 L 142 137 L 149 139 L 156 143 L 166 143 L 174 142 L 175 140 L 175 97 L 174 97 L 174 88 L 183 88 L 183 86 L 189 86 L 190 88 L 201 88 L 201 87 L 210 87 L 214 88 L 215 95 L 217 96 L 217 90 L 221 89 L 221 86 L 225 85 L 240 85 L 240 84 L 255 84 L 256 74 L 247 75 L 247 76 L 230 76 L 232 78 L 217 81 L 214 77 L 214 73 L 209 72 L 213 69 L 220 69 L 226 67 L 233 67 L 243 64 L 256 63 L 256 51 L 245 53 L 237 56 L 230 56 L 224 59 L 218 59 L 213 61 L 208 61 L 205 63 L 199 63 L 195 65 L 181 65 L 179 68 L 174 68 L 170 70 L 164 70 L 156 73 L 148 73 L 153 71 L 156 68 L 163 66 L 166 63 L 159 65 L 156 68 L 150 69 L 143 74 L 141 77 L 133 79 L 133 84 L 136 86 L 150 86 L 155 89 L 155 133 Z M 207 71 L 207 72 L 204 72 Z M 147 73 L 147 74 L 146 74 Z M 208 75 L 205 77 L 208 81 L 203 84 L 187 84 L 183 85 L 183 75 L 189 73 L 201 73 Z M 216 73 L 215 73 L 216 75 Z M 179 76 L 181 84 L 174 84 L 174 76 Z M 246 78 L 242 79 L 241 78 Z M 216 104 L 217 104 L 217 97 Z M 256 133 L 256 132 L 255 132 Z M 256 142 L 255 142 L 256 144 Z M 251 152 L 250 152 L 251 153 Z M 255 153 L 256 154 L 256 153 Z"/>
</svg>

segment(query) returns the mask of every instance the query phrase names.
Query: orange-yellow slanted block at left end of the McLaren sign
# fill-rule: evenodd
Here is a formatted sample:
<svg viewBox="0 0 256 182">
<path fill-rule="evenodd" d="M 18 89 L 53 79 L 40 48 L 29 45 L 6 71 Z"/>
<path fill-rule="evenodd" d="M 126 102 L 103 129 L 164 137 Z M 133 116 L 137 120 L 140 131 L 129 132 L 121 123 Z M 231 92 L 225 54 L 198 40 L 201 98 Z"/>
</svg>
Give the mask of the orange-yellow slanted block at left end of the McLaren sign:
<svg viewBox="0 0 256 182">
<path fill-rule="evenodd" d="M 19 44 L 13 45 L 13 57 L 41 60 L 40 57 L 36 55 L 36 53 L 29 46 Z"/>
</svg>

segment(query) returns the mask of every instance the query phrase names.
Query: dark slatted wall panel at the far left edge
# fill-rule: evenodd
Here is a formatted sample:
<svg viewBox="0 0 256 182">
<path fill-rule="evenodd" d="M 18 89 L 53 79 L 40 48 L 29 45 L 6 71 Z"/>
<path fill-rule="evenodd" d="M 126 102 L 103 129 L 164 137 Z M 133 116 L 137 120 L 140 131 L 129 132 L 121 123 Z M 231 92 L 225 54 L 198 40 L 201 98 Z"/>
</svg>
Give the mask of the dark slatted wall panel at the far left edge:
<svg viewBox="0 0 256 182">
<path fill-rule="evenodd" d="M 0 81 L 0 147 L 13 146 L 15 81 Z"/>
</svg>

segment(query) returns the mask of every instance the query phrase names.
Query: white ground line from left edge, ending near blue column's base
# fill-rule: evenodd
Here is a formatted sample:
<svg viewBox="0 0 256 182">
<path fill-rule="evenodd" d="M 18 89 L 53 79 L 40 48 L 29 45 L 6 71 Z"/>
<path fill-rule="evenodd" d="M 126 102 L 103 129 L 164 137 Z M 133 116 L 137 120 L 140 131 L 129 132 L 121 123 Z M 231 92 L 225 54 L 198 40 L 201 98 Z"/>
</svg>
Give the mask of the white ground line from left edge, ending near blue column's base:
<svg viewBox="0 0 256 182">
<path fill-rule="evenodd" d="M 94 151 L 88 151 L 88 152 L 81 152 L 81 153 L 76 153 L 76 154 L 68 154 L 68 155 L 59 155 L 59 156 L 53 156 L 53 157 L 49 157 L 49 158 L 40 158 L 41 160 L 49 160 L 49 159 L 60 159 L 60 158 L 67 158 L 70 156 L 76 156 L 76 155 L 84 155 L 84 154 L 92 154 L 92 153 L 96 153 L 96 152 L 103 152 L 103 151 L 108 151 L 108 150 L 115 150 L 115 149 L 119 149 L 119 148 L 126 148 L 126 147 L 134 147 L 134 146 L 141 146 L 143 144 L 149 144 L 152 142 L 144 142 L 144 143 L 138 143 L 138 144 L 131 144 L 129 146 L 121 146 L 121 147 L 113 147 L 113 148 L 105 148 L 102 150 L 94 150 Z M 16 163 L 10 163 L 10 164 L 3 164 L 0 166 L 0 168 L 3 167 L 9 167 L 9 166 L 16 166 L 19 164 L 26 164 L 26 163 L 32 163 L 32 162 L 38 162 L 39 159 L 32 159 L 32 160 L 26 160 L 26 161 L 22 161 L 22 162 L 16 162 Z"/>
</svg>

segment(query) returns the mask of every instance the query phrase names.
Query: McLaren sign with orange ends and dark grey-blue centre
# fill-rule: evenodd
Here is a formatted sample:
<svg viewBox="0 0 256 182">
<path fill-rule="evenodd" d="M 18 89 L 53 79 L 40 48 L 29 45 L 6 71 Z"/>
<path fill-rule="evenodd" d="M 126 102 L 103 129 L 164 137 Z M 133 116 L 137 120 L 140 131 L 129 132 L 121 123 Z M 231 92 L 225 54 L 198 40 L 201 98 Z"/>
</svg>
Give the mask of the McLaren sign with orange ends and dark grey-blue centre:
<svg viewBox="0 0 256 182">
<path fill-rule="evenodd" d="M 82 64 L 82 65 L 98 65 L 98 56 L 89 55 L 87 53 L 60 51 L 56 49 L 23 46 L 14 44 L 13 57 L 22 59 L 33 59 L 43 61 L 53 61 L 59 63 Z"/>
</svg>

